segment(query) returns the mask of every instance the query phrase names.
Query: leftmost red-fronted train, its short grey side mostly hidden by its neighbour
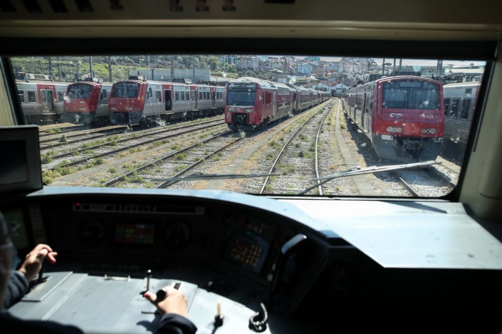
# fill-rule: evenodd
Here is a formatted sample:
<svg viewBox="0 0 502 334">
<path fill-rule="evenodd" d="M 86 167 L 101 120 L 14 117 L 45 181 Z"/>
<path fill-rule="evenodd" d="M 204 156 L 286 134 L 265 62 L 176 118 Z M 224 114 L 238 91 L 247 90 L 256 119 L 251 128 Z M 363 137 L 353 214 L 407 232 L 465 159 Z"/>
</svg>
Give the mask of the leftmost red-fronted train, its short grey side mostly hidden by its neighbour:
<svg viewBox="0 0 502 334">
<path fill-rule="evenodd" d="M 68 85 L 60 115 L 63 122 L 102 126 L 109 123 L 111 83 L 82 81 Z"/>
</svg>

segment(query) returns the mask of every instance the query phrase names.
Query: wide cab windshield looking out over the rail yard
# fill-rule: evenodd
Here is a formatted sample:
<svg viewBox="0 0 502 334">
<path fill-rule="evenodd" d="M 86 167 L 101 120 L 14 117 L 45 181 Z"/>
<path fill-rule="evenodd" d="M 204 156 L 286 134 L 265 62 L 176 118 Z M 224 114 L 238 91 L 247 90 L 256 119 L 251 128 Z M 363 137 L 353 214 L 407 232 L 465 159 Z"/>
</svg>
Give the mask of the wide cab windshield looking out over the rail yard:
<svg viewBox="0 0 502 334">
<path fill-rule="evenodd" d="M 337 55 L 11 57 L 10 64 L 20 79 L 11 100 L 20 101 L 27 124 L 40 126 L 46 185 L 272 196 L 448 195 L 482 117 L 487 75 L 480 60 Z M 111 82 L 111 91 L 103 84 L 98 94 L 86 78 Z M 95 110 L 79 100 L 91 92 Z M 92 126 L 103 131 L 74 137 L 84 123 L 79 110 L 99 117 Z M 428 161 L 436 164 L 374 172 Z M 361 174 L 347 176 L 352 166 Z"/>
</svg>

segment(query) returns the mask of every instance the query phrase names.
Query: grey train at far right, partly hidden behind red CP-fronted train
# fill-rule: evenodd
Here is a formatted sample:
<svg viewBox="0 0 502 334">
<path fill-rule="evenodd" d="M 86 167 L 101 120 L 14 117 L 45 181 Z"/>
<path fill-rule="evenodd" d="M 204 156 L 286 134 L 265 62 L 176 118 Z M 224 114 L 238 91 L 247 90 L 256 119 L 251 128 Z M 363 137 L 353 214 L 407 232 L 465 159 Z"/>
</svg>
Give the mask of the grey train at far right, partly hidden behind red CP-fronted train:
<svg viewBox="0 0 502 334">
<path fill-rule="evenodd" d="M 479 82 L 463 82 L 443 86 L 444 142 L 442 155 L 461 163 L 474 117 Z"/>
</svg>

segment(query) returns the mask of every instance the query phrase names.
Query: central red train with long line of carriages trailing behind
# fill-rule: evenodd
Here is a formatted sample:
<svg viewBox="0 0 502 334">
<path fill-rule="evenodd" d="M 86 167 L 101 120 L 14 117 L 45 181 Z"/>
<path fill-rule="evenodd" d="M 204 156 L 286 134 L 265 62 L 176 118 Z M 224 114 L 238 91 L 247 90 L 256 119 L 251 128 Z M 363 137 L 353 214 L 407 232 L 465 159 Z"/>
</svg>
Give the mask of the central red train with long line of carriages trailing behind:
<svg viewBox="0 0 502 334">
<path fill-rule="evenodd" d="M 328 100 L 326 92 L 242 77 L 227 84 L 225 122 L 232 131 L 255 130 Z"/>
</svg>

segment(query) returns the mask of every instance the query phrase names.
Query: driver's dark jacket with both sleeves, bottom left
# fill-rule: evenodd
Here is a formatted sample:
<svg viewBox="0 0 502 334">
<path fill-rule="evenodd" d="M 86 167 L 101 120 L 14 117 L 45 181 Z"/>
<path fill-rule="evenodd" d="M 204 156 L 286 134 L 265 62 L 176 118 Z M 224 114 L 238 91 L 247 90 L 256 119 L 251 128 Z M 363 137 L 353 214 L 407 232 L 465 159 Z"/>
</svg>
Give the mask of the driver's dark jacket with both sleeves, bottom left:
<svg viewBox="0 0 502 334">
<path fill-rule="evenodd" d="M 17 303 L 28 292 L 28 280 L 25 275 L 17 270 L 11 272 L 9 286 L 4 295 L 4 308 L 7 309 Z M 134 326 L 135 324 L 131 324 Z M 0 312 L 0 328 L 2 334 L 6 333 L 83 333 L 77 327 L 62 325 L 53 321 L 23 320 L 12 316 L 7 311 Z M 110 328 L 111 331 L 111 328 Z M 157 334 L 193 334 L 197 327 L 184 316 L 167 313 L 160 320 L 159 327 L 155 331 Z"/>
</svg>

